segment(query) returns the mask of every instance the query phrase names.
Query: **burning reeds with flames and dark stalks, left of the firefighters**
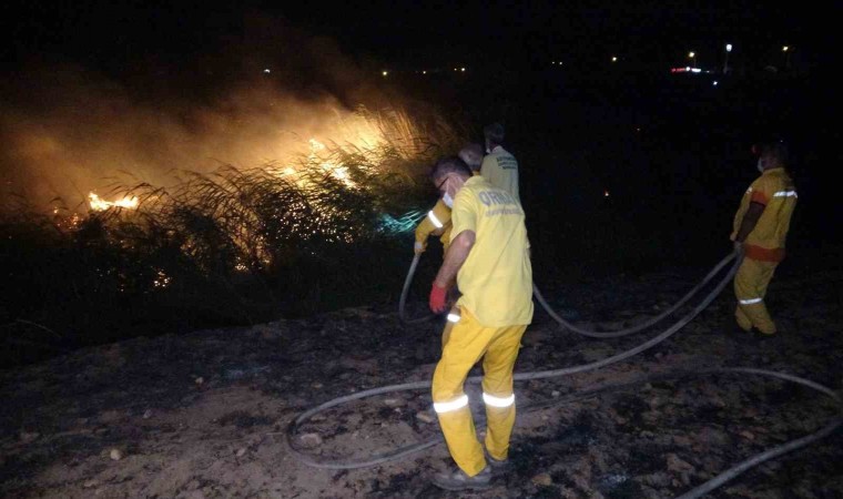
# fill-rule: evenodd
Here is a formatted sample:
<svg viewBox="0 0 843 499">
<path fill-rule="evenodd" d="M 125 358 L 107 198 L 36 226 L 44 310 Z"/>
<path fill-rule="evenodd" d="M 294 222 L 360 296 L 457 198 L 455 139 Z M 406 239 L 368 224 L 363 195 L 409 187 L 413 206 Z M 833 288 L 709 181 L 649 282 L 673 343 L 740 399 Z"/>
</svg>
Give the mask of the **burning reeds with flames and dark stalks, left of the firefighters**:
<svg viewBox="0 0 843 499">
<path fill-rule="evenodd" d="M 441 121 L 358 113 L 378 141 L 315 143 L 283 164 L 175 172 L 167 187 L 115 182 L 103 193 L 131 207 L 7 200 L 3 363 L 394 299 L 431 203 L 428 169 L 466 139 Z"/>
</svg>

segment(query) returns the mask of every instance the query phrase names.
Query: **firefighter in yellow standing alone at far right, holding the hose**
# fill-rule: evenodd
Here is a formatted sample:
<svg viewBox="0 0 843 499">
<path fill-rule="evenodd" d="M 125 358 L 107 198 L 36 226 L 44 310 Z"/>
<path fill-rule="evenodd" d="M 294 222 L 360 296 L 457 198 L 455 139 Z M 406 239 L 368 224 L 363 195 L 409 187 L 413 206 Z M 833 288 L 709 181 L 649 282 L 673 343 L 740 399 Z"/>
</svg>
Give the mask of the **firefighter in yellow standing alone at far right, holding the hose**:
<svg viewBox="0 0 843 499">
<path fill-rule="evenodd" d="M 785 170 L 788 147 L 771 142 L 759 147 L 761 172 L 746 190 L 730 238 L 743 261 L 734 276 L 738 326 L 745 332 L 754 327 L 762 335 L 773 335 L 775 323 L 764 305 L 766 287 L 784 258 L 784 242 L 796 206 L 796 189 Z"/>
</svg>

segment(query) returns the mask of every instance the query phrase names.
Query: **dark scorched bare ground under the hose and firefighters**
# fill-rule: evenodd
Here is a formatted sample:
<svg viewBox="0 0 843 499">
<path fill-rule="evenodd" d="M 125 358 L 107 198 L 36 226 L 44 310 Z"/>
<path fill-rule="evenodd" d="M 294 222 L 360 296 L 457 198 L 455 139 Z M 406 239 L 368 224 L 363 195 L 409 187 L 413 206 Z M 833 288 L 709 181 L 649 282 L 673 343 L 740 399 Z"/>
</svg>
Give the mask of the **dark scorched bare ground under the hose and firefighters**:
<svg viewBox="0 0 843 499">
<path fill-rule="evenodd" d="M 542 284 L 549 281 L 542 274 L 537 283 L 562 315 L 608 330 L 658 314 L 707 272 L 677 268 L 565 285 Z M 567 400 L 590 387 L 672 369 L 717 366 L 781 370 L 839 390 L 841 278 L 843 272 L 815 258 L 783 268 L 768 297 L 783 330 L 764 340 L 731 327 L 729 286 L 679 333 L 642 354 L 597 370 L 518 383 L 519 406 Z M 413 308 L 422 312 L 424 304 L 414 302 Z M 295 459 L 284 444 L 292 418 L 338 396 L 429 380 L 440 327 L 439 322 L 405 326 L 395 304 L 380 304 L 309 319 L 136 338 L 3 371 L 0 495 L 671 498 L 742 459 L 817 430 L 840 410 L 802 386 L 732 374 L 642 381 L 522 409 L 512 469 L 483 493 L 429 485 L 429 475 L 448 462 L 444 445 L 360 469 L 317 469 Z M 660 330 L 587 338 L 560 330 L 537 306 L 516 368 L 586 364 Z M 429 406 L 427 390 L 376 396 L 317 415 L 297 438 L 318 459 L 364 459 L 437 436 Z M 708 497 L 843 497 L 843 431 L 753 467 Z"/>
</svg>

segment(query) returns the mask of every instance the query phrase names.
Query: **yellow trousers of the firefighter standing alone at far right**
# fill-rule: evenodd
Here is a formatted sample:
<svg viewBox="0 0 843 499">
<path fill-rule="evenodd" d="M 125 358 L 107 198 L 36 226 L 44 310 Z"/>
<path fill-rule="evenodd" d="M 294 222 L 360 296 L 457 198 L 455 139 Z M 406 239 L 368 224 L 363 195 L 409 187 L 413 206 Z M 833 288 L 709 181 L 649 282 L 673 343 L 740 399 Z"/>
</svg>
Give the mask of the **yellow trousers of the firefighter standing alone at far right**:
<svg viewBox="0 0 843 499">
<path fill-rule="evenodd" d="M 750 330 L 755 326 L 763 334 L 775 334 L 775 323 L 766 310 L 764 295 L 778 265 L 778 262 L 744 257 L 738 268 L 734 275 L 734 295 L 738 298 L 734 317 L 742 329 Z"/>
</svg>

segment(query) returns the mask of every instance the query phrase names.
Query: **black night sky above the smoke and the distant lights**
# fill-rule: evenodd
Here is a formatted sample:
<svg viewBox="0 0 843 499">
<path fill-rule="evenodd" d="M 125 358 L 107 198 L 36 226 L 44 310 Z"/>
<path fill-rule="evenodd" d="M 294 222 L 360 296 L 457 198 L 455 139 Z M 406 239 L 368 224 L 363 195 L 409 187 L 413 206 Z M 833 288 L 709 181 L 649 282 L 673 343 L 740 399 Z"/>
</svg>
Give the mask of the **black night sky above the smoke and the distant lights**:
<svg viewBox="0 0 843 499">
<path fill-rule="evenodd" d="M 825 2 L 817 2 L 825 3 Z M 827 6 L 827 3 L 825 3 Z M 349 57 L 393 68 L 522 64 L 636 53 L 669 61 L 733 43 L 791 44 L 833 58 L 841 8 L 735 0 L 638 2 L 3 2 L 7 72 L 73 62 L 120 74 L 134 61 L 177 65 L 247 38 L 254 19 L 333 39 Z M 823 21 L 823 20 L 829 21 Z M 825 55 L 821 55 L 827 49 Z"/>
</svg>

